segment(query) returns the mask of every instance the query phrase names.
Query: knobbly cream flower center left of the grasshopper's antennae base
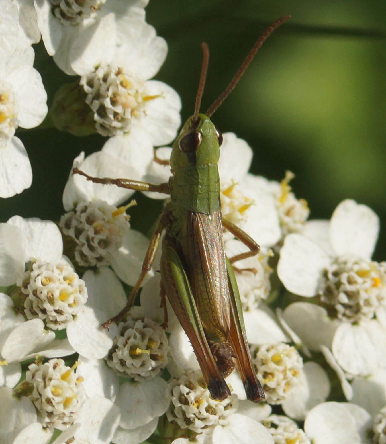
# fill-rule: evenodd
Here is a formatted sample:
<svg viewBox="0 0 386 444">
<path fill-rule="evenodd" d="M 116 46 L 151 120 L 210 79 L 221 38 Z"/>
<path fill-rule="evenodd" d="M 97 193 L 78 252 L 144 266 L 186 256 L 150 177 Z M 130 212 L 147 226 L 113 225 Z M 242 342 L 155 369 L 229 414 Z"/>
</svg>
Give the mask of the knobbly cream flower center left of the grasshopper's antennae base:
<svg viewBox="0 0 386 444">
<path fill-rule="evenodd" d="M 98 67 L 80 79 L 87 93 L 86 103 L 94 111 L 95 127 L 103 136 L 123 134 L 145 115 L 146 102 L 162 95 L 148 95 L 145 83 L 119 67 Z"/>
</svg>

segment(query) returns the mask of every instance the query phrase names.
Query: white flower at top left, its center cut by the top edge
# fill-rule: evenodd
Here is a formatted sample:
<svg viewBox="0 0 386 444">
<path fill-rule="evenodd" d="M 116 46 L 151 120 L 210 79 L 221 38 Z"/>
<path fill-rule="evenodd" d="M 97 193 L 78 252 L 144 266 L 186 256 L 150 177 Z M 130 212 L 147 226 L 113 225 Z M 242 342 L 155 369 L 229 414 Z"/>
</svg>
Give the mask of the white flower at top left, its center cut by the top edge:
<svg viewBox="0 0 386 444">
<path fill-rule="evenodd" d="M 110 32 L 103 35 L 101 51 L 110 50 L 111 40 L 120 39 L 126 21 L 143 21 L 147 0 L 86 0 L 83 2 L 35 0 L 37 22 L 47 52 L 67 74 L 74 75 L 71 63 L 87 51 L 90 40 L 98 38 L 99 24 L 107 15 L 112 16 Z M 125 34 L 123 34 L 124 36 Z M 106 38 L 108 37 L 108 38 Z"/>
</svg>

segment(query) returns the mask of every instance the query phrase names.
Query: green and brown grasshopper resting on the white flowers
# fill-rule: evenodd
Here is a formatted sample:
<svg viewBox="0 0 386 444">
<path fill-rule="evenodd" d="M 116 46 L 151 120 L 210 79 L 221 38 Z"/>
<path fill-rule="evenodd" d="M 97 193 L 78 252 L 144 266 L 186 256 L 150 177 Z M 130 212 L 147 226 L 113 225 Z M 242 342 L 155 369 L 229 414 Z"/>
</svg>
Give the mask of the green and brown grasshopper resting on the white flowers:
<svg viewBox="0 0 386 444">
<path fill-rule="evenodd" d="M 74 168 L 95 183 L 115 184 L 138 191 L 158 191 L 169 194 L 150 239 L 138 281 L 130 292 L 126 306 L 105 324 L 117 321 L 130 310 L 138 289 L 152 267 L 162 240 L 161 306 L 165 310 L 165 295 L 193 345 L 205 383 L 214 399 L 230 395 L 225 377 L 237 365 L 249 400 L 264 399 L 264 391 L 251 362 L 245 334 L 240 295 L 232 264 L 256 255 L 260 246 L 232 222 L 221 218 L 220 181 L 217 162 L 222 135 L 210 117 L 229 95 L 244 74 L 252 58 L 267 37 L 289 19 L 276 20 L 256 41 L 252 50 L 225 91 L 205 114 L 199 112 L 204 89 L 209 50 L 203 43 L 203 63 L 193 116 L 185 122 L 169 162 L 169 182 L 154 185 L 128 179 L 95 178 Z M 230 231 L 248 246 L 249 251 L 227 258 L 224 251 L 223 229 Z M 236 269 L 237 270 L 237 269 Z"/>
</svg>

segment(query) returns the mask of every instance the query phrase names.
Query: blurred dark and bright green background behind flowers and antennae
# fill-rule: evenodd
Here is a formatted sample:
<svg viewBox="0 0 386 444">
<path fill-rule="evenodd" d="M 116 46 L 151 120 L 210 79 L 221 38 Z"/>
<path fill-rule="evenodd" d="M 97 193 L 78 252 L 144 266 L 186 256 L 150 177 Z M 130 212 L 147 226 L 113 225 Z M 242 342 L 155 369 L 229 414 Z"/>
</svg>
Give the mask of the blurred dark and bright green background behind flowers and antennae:
<svg viewBox="0 0 386 444">
<path fill-rule="evenodd" d="M 291 20 L 264 44 L 213 122 L 247 140 L 255 152 L 253 173 L 281 180 L 285 170 L 293 171 L 291 186 L 308 201 L 311 218 L 330 218 L 344 198 L 370 206 L 381 218 L 374 258 L 385 260 L 385 1 L 150 0 L 146 20 L 169 44 L 157 79 L 180 94 L 186 119 L 193 112 L 200 42 L 206 41 L 211 56 L 205 111 L 260 33 L 286 14 Z M 35 52 L 50 104 L 56 88 L 71 78 L 55 66 L 42 43 Z M 58 220 L 73 158 L 82 150 L 99 150 L 104 139 L 54 129 L 17 135 L 31 159 L 33 184 L 1 200 L 0 221 L 13 214 Z M 130 211 L 132 225 L 146 231 L 155 218 L 149 212 L 157 212 L 161 202 L 138 201 Z"/>
</svg>

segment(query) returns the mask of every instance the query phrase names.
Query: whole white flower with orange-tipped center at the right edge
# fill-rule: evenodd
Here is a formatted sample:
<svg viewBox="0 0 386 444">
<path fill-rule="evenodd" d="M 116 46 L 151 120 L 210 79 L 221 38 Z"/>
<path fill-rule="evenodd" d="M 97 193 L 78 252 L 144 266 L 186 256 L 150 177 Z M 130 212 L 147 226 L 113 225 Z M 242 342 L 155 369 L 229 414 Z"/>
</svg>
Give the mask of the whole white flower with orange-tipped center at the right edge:
<svg viewBox="0 0 386 444">
<path fill-rule="evenodd" d="M 320 227 L 326 229 L 325 224 Z M 330 348 L 352 375 L 366 376 L 386 365 L 385 266 L 370 260 L 378 228 L 370 208 L 345 200 L 331 217 L 328 235 L 315 242 L 289 234 L 280 250 L 277 270 L 284 286 L 301 296 L 319 295 L 316 302 L 322 305 L 290 304 L 284 321 L 311 350 L 321 344 Z M 323 239 L 331 245 L 320 245 Z"/>
</svg>

